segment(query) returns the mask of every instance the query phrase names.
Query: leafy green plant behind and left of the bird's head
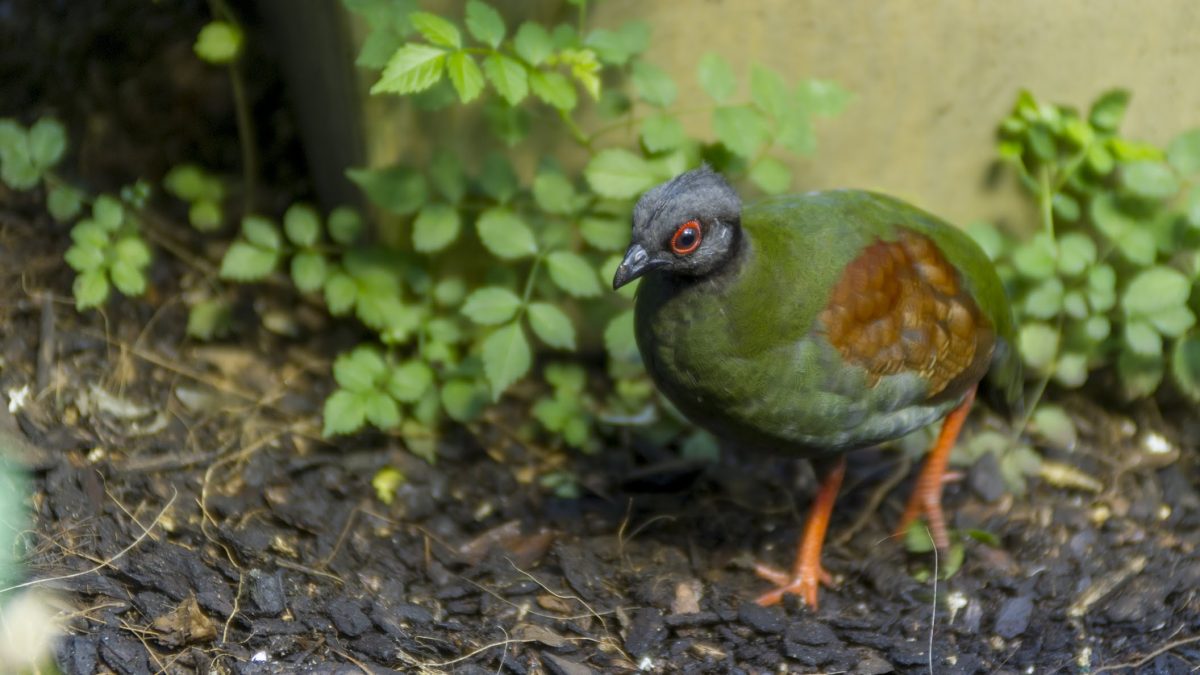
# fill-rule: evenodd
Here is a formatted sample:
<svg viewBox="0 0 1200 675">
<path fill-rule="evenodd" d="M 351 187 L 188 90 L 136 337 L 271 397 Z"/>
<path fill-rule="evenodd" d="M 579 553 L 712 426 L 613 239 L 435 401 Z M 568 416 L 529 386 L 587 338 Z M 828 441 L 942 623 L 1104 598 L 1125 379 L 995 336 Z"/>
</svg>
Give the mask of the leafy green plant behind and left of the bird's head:
<svg viewBox="0 0 1200 675">
<path fill-rule="evenodd" d="M 571 24 L 510 26 L 479 0 L 466 4 L 462 23 L 413 2 L 346 6 L 371 29 L 359 64 L 380 71 L 372 94 L 412 96 L 422 114 L 480 106 L 494 144 L 475 171 L 470 157 L 445 149 L 425 166 L 349 171 L 376 208 L 398 219 L 400 231 L 380 232 L 389 245 L 331 237 L 316 250 L 290 234 L 252 237 L 244 222 L 226 257 L 227 265 L 236 256 L 233 267 L 254 268 L 240 280 L 260 279 L 290 256 L 298 287 L 319 287 L 331 313 L 353 313 L 379 336 L 379 345 L 352 352 L 353 363 L 370 362 L 371 377 L 347 381 L 349 366 L 335 366 L 340 389 L 326 402 L 326 434 L 364 424 L 431 432 L 443 414 L 474 419 L 533 371 L 536 352 L 575 353 L 602 338 L 614 381 L 608 398 L 593 398 L 586 371 L 570 364 L 547 366 L 548 387 L 530 389 L 534 418 L 552 437 L 593 447 L 593 422 L 653 400 L 632 339 L 631 291 L 605 291 L 628 244 L 631 199 L 700 161 L 764 192 L 784 191 L 791 173 L 780 153 L 812 153 L 812 118 L 848 101 L 832 83 L 793 86 L 757 66 L 749 100 L 737 101 L 728 62 L 708 54 L 697 71 L 714 101 L 713 139 L 704 141 L 689 137 L 672 109 L 676 83 L 641 58 L 646 24 L 586 32 Z M 575 120 L 586 106 L 601 120 L 596 129 Z M 557 120 L 546 133 L 557 129 L 587 153 L 581 169 L 547 157 L 530 177 L 518 175 L 505 149 L 527 138 L 538 118 Z M 628 130 L 636 131 L 632 148 L 618 136 Z M 324 270 L 323 283 L 317 271 L 296 276 L 289 246 L 301 244 L 325 257 L 311 261 Z M 338 364 L 352 363 L 346 358 Z M 386 387 L 397 364 L 420 369 L 419 392 L 397 396 Z"/>
</svg>

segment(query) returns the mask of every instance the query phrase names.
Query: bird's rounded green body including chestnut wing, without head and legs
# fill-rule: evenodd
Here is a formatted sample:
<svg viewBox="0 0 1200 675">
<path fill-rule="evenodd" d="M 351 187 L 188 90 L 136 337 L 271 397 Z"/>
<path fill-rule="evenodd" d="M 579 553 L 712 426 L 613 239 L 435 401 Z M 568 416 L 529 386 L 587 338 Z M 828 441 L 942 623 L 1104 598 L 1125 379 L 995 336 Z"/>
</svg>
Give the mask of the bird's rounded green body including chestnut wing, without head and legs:
<svg viewBox="0 0 1200 675">
<path fill-rule="evenodd" d="M 814 455 L 934 422 L 996 353 L 1016 390 L 1003 288 L 953 226 L 845 190 L 752 204 L 742 228 L 728 269 L 638 291 L 647 369 L 698 424 Z"/>
</svg>

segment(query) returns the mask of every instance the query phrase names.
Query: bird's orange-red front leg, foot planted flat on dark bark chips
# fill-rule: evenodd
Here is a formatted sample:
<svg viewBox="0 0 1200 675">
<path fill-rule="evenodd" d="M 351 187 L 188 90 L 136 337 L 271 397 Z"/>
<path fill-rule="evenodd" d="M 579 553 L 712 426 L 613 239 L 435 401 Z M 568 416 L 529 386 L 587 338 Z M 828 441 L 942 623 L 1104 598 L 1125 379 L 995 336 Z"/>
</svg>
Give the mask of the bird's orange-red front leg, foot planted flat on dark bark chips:
<svg viewBox="0 0 1200 675">
<path fill-rule="evenodd" d="M 808 522 L 804 524 L 804 536 L 796 551 L 796 566 L 791 574 L 768 567 L 766 565 L 755 566 L 758 577 L 778 586 L 774 591 L 763 593 L 756 601 L 763 607 L 773 605 L 784 599 L 786 593 L 797 593 L 804 599 L 804 604 L 817 608 L 817 583 L 829 584 L 829 573 L 821 567 L 821 546 L 824 544 L 826 530 L 829 528 L 829 514 L 833 513 L 833 503 L 838 498 L 838 490 L 841 488 L 841 479 L 846 476 L 846 458 L 838 458 L 838 462 L 829 470 L 821 483 L 816 498 L 812 501 L 812 509 L 809 512 Z"/>
</svg>

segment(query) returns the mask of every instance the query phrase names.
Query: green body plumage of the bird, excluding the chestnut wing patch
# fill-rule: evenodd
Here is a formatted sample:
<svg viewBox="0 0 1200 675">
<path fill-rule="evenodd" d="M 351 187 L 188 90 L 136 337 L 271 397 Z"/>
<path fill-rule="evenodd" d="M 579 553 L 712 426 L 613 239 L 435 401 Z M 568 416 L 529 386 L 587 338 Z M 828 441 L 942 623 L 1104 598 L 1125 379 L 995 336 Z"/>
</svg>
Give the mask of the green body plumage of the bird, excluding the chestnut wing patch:
<svg viewBox="0 0 1200 675">
<path fill-rule="evenodd" d="M 636 331 L 648 371 L 692 420 L 767 450 L 818 456 L 937 420 L 973 382 L 932 398 L 918 374 L 872 382 L 827 341 L 818 322 L 846 265 L 872 243 L 895 240 L 899 228 L 930 239 L 958 269 L 996 334 L 992 377 L 1015 401 L 1012 311 L 991 262 L 930 214 L 852 190 L 746 207 L 724 264 L 703 275 L 647 274 Z"/>
</svg>

